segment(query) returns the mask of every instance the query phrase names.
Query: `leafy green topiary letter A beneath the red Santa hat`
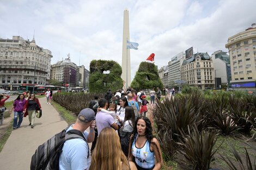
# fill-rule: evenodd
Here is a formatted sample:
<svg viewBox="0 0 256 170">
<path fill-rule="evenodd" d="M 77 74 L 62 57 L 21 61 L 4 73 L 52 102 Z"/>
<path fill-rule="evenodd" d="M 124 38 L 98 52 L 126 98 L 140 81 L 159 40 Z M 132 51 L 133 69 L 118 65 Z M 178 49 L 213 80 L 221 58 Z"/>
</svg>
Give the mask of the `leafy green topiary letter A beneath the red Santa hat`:
<svg viewBox="0 0 256 170">
<path fill-rule="evenodd" d="M 155 64 L 149 62 L 141 62 L 138 71 L 136 72 L 135 78 L 131 83 L 132 89 L 152 89 L 159 87 L 163 88 L 162 81 L 157 72 Z"/>
</svg>

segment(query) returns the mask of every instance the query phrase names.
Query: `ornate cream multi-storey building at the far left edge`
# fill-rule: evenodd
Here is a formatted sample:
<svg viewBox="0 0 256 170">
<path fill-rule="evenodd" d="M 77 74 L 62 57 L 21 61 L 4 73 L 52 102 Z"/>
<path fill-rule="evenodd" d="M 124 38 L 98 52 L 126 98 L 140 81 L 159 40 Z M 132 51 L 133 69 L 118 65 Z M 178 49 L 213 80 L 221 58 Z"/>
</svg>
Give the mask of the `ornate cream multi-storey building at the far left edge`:
<svg viewBox="0 0 256 170">
<path fill-rule="evenodd" d="M 0 88 L 17 90 L 21 85 L 45 85 L 50 79 L 52 53 L 21 36 L 0 38 Z"/>
</svg>

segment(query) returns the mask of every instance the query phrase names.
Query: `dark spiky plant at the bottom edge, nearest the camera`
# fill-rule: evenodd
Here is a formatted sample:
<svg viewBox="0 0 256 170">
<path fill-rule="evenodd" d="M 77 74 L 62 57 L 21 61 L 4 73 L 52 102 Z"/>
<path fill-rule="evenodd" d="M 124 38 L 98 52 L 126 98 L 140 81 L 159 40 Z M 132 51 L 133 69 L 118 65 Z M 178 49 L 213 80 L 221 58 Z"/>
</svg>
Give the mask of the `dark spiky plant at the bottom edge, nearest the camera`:
<svg viewBox="0 0 256 170">
<path fill-rule="evenodd" d="M 214 161 L 214 154 L 218 148 L 213 150 L 217 138 L 212 131 L 202 131 L 199 133 L 196 126 L 189 134 L 182 133 L 184 140 L 180 141 L 182 149 L 179 151 L 185 156 L 186 162 L 193 167 L 193 169 L 205 170 L 210 169 L 210 164 Z"/>
</svg>

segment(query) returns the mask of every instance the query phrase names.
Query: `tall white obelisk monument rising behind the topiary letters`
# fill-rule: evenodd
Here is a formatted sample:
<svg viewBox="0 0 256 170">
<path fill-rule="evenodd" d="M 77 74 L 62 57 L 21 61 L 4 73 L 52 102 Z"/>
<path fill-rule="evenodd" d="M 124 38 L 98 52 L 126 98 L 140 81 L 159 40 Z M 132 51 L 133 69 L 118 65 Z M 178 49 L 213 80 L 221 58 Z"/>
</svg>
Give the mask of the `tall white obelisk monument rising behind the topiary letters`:
<svg viewBox="0 0 256 170">
<path fill-rule="evenodd" d="M 125 81 L 124 87 L 127 89 L 131 85 L 131 60 L 130 49 L 127 49 L 127 40 L 130 41 L 129 30 L 129 11 L 124 10 L 124 28 L 123 28 L 123 53 L 122 53 L 122 75 Z"/>
</svg>

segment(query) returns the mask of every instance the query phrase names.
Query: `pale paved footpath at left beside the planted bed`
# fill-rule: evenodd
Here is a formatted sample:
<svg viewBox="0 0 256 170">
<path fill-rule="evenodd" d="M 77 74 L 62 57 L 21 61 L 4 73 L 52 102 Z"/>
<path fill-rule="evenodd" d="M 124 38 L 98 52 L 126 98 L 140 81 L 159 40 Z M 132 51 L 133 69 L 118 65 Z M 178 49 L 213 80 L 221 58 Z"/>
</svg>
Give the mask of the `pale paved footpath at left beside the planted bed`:
<svg viewBox="0 0 256 170">
<path fill-rule="evenodd" d="M 28 116 L 23 118 L 19 129 L 13 130 L 0 153 L 0 169 L 30 169 L 31 157 L 35 149 L 48 138 L 67 127 L 67 123 L 52 105 L 46 104 L 46 98 L 39 99 L 42 117 L 35 118 L 34 129 L 28 126 Z M 13 117 L 13 114 L 11 114 Z"/>
</svg>

